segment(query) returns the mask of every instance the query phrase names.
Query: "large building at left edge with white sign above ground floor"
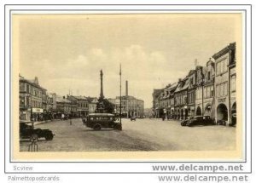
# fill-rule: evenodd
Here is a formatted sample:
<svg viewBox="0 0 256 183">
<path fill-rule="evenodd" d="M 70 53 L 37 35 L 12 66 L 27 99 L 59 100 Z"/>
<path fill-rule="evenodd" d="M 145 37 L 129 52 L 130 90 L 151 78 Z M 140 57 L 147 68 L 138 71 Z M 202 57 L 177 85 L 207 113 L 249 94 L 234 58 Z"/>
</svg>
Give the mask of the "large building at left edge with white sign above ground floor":
<svg viewBox="0 0 256 183">
<path fill-rule="evenodd" d="M 35 77 L 33 80 L 28 80 L 20 76 L 19 84 L 20 119 L 26 121 L 43 120 L 43 107 L 46 108 L 46 89 L 39 85 L 38 77 Z"/>
</svg>

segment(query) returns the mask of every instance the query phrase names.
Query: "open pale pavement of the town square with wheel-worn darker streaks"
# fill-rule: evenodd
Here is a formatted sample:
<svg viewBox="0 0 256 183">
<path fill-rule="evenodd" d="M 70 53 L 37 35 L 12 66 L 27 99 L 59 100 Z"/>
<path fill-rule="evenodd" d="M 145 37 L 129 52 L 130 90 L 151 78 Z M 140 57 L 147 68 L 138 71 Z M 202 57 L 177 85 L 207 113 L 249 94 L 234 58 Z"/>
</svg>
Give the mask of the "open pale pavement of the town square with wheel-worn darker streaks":
<svg viewBox="0 0 256 183">
<path fill-rule="evenodd" d="M 102 151 L 215 151 L 236 149 L 236 128 L 228 126 L 182 127 L 179 121 L 160 119 L 122 119 L 123 131 L 86 128 L 81 119 L 38 124 L 50 129 L 53 140 L 38 141 L 40 152 Z M 20 151 L 26 152 L 30 142 L 20 140 Z"/>
</svg>

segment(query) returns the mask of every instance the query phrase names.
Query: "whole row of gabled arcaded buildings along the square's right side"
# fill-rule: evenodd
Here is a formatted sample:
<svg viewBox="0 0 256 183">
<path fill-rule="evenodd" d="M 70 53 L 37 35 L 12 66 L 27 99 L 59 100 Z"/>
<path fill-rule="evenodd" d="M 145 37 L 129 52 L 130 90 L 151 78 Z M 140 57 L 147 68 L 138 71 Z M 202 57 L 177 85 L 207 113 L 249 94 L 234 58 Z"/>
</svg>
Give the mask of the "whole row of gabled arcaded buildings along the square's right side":
<svg viewBox="0 0 256 183">
<path fill-rule="evenodd" d="M 154 117 L 171 114 L 172 118 L 186 119 L 204 115 L 219 124 L 236 125 L 236 43 L 212 58 L 206 66 L 196 66 L 187 77 L 179 79 L 174 91 L 154 89 Z"/>
</svg>

